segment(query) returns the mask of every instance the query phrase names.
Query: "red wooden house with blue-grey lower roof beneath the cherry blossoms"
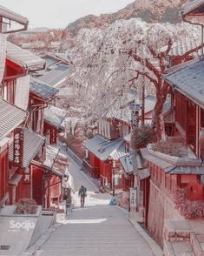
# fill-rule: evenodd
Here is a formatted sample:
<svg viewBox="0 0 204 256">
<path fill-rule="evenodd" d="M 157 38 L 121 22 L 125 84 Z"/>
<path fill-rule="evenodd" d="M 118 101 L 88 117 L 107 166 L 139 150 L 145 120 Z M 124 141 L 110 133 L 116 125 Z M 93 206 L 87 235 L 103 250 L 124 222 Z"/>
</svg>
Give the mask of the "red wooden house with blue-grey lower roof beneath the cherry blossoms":
<svg viewBox="0 0 204 256">
<path fill-rule="evenodd" d="M 131 111 L 128 102 L 135 98 L 139 101 L 135 94 L 128 93 L 117 101 L 98 121 L 98 135 L 83 144 L 86 149 L 84 168 L 91 176 L 100 179 L 102 186 L 109 185 L 112 188 L 112 180 L 115 177 L 115 188 L 121 188 L 124 192 L 128 192 L 129 187 L 133 187 L 135 182 L 133 170 L 130 171 L 126 165 L 122 165 L 126 160 L 131 161 L 128 153 L 131 130 Z M 155 97 L 148 95 L 145 98 L 145 124 L 151 124 L 154 107 Z M 139 118 L 141 122 L 141 111 Z"/>
</svg>

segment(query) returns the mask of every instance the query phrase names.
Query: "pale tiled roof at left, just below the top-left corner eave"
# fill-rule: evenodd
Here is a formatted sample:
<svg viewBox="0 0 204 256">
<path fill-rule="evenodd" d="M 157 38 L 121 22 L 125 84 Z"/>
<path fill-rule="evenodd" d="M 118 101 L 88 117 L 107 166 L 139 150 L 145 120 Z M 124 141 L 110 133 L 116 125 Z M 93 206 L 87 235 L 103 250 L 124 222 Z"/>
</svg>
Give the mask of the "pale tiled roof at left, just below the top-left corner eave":
<svg viewBox="0 0 204 256">
<path fill-rule="evenodd" d="M 25 51 L 21 47 L 10 42 L 7 42 L 6 57 L 15 64 L 20 65 L 24 69 L 29 69 L 30 71 L 41 69 L 45 64 L 41 57 L 37 57 L 30 51 Z"/>
</svg>

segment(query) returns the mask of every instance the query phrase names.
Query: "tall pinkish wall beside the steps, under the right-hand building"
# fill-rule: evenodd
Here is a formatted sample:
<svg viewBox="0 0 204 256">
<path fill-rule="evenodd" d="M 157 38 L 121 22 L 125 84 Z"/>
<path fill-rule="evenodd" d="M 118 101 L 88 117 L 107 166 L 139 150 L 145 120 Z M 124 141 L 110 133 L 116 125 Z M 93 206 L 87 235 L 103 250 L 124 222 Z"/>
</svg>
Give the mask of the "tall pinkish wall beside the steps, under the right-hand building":
<svg viewBox="0 0 204 256">
<path fill-rule="evenodd" d="M 164 219 L 183 219 L 174 202 L 150 180 L 148 232 L 162 246 Z"/>
</svg>

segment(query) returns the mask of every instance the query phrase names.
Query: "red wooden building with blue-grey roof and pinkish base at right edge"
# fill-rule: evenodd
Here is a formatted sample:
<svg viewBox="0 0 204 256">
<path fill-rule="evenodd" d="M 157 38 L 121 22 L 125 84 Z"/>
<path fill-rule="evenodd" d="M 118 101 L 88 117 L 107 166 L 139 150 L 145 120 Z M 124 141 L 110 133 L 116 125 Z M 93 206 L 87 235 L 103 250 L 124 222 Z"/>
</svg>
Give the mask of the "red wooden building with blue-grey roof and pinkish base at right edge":
<svg viewBox="0 0 204 256">
<path fill-rule="evenodd" d="M 189 3 L 182 11 L 184 20 L 189 17 L 191 22 L 194 18 L 201 21 L 203 7 L 203 1 Z M 148 145 L 147 148 L 141 149 L 142 157 L 146 160 L 151 173 L 149 195 L 146 195 L 148 201 L 144 206 L 144 222 L 150 234 L 161 245 L 165 219 L 184 218 L 175 208 L 175 191 L 184 189 L 183 193 L 189 205 L 204 199 L 201 142 L 204 125 L 203 68 L 204 62 L 201 56 L 168 70 L 164 79 L 171 85 L 171 109 L 174 122 L 172 135 L 167 136 L 165 142 L 169 148 L 167 151 L 162 151 L 159 149 L 160 146 L 158 148 Z M 194 218 L 194 212 L 190 210 L 187 215 L 188 218 Z"/>
</svg>

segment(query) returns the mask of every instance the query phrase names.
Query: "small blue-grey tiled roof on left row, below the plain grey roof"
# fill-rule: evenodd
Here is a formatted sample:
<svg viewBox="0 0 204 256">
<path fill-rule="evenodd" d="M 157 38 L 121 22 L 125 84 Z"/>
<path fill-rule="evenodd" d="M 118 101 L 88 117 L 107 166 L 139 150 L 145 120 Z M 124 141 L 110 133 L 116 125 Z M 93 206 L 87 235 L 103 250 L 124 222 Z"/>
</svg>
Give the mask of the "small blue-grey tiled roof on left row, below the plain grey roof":
<svg viewBox="0 0 204 256">
<path fill-rule="evenodd" d="M 44 99 L 53 98 L 58 92 L 56 88 L 33 77 L 30 79 L 30 91 Z"/>
</svg>

